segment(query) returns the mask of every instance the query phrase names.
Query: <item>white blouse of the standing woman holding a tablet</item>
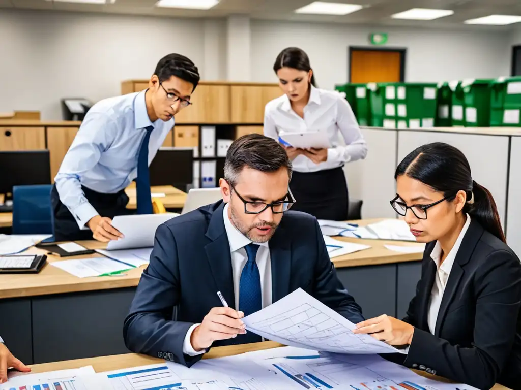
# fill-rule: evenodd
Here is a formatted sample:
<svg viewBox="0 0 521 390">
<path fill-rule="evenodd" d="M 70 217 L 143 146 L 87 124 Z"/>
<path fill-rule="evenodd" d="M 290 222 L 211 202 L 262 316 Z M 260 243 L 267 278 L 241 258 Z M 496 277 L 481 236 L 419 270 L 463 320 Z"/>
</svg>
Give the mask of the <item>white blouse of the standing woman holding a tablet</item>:
<svg viewBox="0 0 521 390">
<path fill-rule="evenodd" d="M 316 172 L 365 159 L 367 144 L 353 110 L 339 93 L 311 86 L 304 118 L 293 111 L 287 95 L 267 103 L 264 109 L 264 135 L 275 140 L 287 133 L 326 132 L 331 143 L 327 161 L 315 164 L 304 155 L 293 160 L 296 172 Z M 342 135 L 345 146 L 340 145 Z"/>
</svg>

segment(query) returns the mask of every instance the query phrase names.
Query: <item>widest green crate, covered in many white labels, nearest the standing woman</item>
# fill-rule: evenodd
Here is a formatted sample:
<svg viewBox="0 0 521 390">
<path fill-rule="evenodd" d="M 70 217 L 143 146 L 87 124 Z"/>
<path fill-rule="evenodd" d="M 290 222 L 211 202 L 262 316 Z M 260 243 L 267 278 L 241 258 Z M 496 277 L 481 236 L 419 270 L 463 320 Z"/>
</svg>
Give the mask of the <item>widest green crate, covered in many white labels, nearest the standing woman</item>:
<svg viewBox="0 0 521 390">
<path fill-rule="evenodd" d="M 386 128 L 433 127 L 437 85 L 432 83 L 378 83 L 371 89 L 371 126 Z"/>
</svg>

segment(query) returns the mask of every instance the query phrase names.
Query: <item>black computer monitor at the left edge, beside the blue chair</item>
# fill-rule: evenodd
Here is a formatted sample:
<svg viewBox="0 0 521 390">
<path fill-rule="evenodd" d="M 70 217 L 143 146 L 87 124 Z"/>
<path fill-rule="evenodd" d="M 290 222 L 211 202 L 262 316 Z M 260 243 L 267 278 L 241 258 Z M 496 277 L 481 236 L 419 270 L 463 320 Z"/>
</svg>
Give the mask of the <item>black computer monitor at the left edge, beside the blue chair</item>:
<svg viewBox="0 0 521 390">
<path fill-rule="evenodd" d="M 51 161 L 48 150 L 0 152 L 0 193 L 13 193 L 14 186 L 51 184 Z"/>
</svg>

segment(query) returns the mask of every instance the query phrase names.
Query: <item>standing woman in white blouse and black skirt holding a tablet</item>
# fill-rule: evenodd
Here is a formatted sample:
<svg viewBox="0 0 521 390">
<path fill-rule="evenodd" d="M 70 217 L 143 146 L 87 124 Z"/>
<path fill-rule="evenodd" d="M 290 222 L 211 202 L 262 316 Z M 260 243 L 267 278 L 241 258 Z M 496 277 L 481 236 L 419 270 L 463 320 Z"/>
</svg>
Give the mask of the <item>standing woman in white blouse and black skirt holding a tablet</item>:
<svg viewBox="0 0 521 390">
<path fill-rule="evenodd" d="M 318 219 L 345 220 L 348 186 L 345 163 L 364 159 L 367 145 L 349 103 L 338 93 L 315 86 L 309 58 L 303 50 L 281 51 L 273 67 L 285 95 L 271 100 L 264 110 L 264 135 L 279 140 L 293 162 L 292 210 Z M 328 149 L 296 149 L 279 137 L 288 133 L 324 132 Z M 345 145 L 340 145 L 342 136 Z"/>
</svg>

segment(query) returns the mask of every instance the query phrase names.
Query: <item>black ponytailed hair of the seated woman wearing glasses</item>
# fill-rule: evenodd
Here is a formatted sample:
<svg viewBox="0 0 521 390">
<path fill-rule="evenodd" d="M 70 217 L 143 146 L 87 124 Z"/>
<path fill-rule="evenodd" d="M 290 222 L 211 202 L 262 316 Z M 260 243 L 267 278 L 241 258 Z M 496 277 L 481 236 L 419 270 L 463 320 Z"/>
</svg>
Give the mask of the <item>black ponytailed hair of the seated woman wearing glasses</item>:
<svg viewBox="0 0 521 390">
<path fill-rule="evenodd" d="M 458 191 L 465 191 L 467 203 L 463 212 L 506 242 L 492 194 L 472 179 L 467 158 L 459 149 L 443 142 L 420 146 L 402 160 L 394 178 L 403 174 L 442 192 L 444 197 L 452 197 L 449 200 L 453 200 Z"/>
</svg>

